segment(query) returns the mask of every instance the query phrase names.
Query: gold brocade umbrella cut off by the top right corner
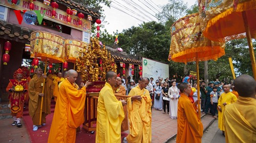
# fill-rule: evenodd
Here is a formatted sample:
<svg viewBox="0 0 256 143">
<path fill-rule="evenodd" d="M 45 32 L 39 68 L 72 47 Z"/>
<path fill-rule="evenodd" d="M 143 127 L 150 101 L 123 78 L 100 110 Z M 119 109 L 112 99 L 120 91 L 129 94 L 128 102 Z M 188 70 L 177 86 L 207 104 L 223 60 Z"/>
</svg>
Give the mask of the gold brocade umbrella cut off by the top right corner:
<svg viewBox="0 0 256 143">
<path fill-rule="evenodd" d="M 256 38 L 255 0 L 200 0 L 200 21 L 203 34 L 214 41 L 229 41 L 247 37 L 254 79 L 256 64 L 251 37 Z M 246 34 L 245 34 L 246 33 Z"/>
</svg>

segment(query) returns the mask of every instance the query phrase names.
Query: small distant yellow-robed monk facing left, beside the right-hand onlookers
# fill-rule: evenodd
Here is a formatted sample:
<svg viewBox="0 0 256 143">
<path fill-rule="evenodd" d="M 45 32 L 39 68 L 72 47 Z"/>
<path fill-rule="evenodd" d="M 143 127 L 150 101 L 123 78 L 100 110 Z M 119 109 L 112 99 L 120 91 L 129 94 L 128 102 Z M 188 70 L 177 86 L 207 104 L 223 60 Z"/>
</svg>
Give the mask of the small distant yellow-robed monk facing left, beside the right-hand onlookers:
<svg viewBox="0 0 256 143">
<path fill-rule="evenodd" d="M 223 112 L 224 112 L 224 107 L 228 104 L 234 103 L 237 101 L 236 95 L 232 94 L 230 92 L 230 85 L 226 84 L 223 85 L 223 90 L 224 93 L 221 94 L 219 100 L 218 100 L 218 126 L 220 130 L 222 130 L 222 134 L 224 134 L 224 126 L 223 126 Z"/>
</svg>

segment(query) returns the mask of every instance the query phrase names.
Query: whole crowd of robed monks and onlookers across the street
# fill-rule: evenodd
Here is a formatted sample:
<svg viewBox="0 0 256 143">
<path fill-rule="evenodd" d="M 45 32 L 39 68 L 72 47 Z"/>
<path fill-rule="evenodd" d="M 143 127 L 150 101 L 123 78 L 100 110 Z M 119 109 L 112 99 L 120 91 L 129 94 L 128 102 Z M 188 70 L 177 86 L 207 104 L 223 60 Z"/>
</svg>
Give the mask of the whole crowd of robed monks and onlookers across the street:
<svg viewBox="0 0 256 143">
<path fill-rule="evenodd" d="M 75 142 L 76 129 L 84 121 L 86 88 L 90 81 L 76 84 L 75 70 L 61 73 L 42 73 L 37 68 L 32 79 L 25 67 L 14 72 L 6 91 L 10 93 L 9 107 L 12 126 L 21 127 L 23 106 L 29 96 L 29 115 L 33 131 L 46 125 L 54 96 L 56 105 L 48 142 Z M 198 95 L 197 90 L 200 90 Z M 182 83 L 175 79 L 143 77 L 133 79 L 117 77 L 113 71 L 106 73 L 106 83 L 99 93 L 97 106 L 96 142 L 120 142 L 121 132 L 129 130 L 122 142 L 151 142 L 152 107 L 177 119 L 177 142 L 201 142 L 203 125 L 198 117 L 201 104 L 203 114 L 210 113 L 218 119 L 220 130 L 227 142 L 256 141 L 256 81 L 249 75 L 241 75 L 233 84 L 210 81 L 197 84 L 185 77 Z M 198 100 L 200 96 L 200 100 Z M 238 130 L 243 132 L 237 134 Z M 234 137 L 236 134 L 237 137 Z"/>
</svg>

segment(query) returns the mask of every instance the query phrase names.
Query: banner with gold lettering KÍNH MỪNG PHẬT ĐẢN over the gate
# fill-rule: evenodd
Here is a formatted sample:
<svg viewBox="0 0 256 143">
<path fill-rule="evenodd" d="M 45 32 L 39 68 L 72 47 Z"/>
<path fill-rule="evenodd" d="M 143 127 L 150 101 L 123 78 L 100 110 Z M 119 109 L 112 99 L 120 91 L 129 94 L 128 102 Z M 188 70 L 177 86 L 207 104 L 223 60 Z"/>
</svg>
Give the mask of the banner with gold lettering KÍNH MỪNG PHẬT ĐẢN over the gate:
<svg viewBox="0 0 256 143">
<path fill-rule="evenodd" d="M 18 1 L 17 5 L 12 5 L 12 4 L 8 3 L 7 0 L 0 0 L 0 5 L 9 7 L 9 8 L 15 9 L 15 10 L 28 10 L 29 11 L 29 4 L 30 4 L 29 1 L 20 0 L 20 1 Z M 51 6 L 47 6 L 38 1 L 35 1 L 34 5 L 35 5 L 34 10 L 40 10 L 41 14 L 43 13 L 44 10 L 46 10 L 46 13 L 44 16 L 45 19 L 48 19 L 48 20 L 51 20 L 51 21 L 54 21 L 54 22 L 57 22 L 57 23 L 60 23 L 63 25 L 67 25 L 72 28 L 76 28 L 77 30 L 80 30 L 80 31 L 91 33 L 91 21 L 82 19 L 82 25 L 79 26 L 78 16 L 71 15 L 71 18 L 72 18 L 71 22 L 68 23 L 67 22 L 68 14 L 65 11 L 56 9 L 56 16 L 52 17 L 51 13 L 52 13 L 53 8 Z"/>
</svg>

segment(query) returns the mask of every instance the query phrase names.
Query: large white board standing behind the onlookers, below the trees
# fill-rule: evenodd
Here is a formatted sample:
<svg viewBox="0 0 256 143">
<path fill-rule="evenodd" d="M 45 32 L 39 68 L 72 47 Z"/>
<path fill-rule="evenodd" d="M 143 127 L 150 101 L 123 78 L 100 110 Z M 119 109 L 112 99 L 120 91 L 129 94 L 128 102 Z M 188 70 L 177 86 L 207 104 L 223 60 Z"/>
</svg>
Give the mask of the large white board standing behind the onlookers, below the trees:
<svg viewBox="0 0 256 143">
<path fill-rule="evenodd" d="M 165 79 L 169 77 L 169 65 L 142 58 L 142 77 L 153 77 L 154 81 L 158 77 Z"/>
</svg>

